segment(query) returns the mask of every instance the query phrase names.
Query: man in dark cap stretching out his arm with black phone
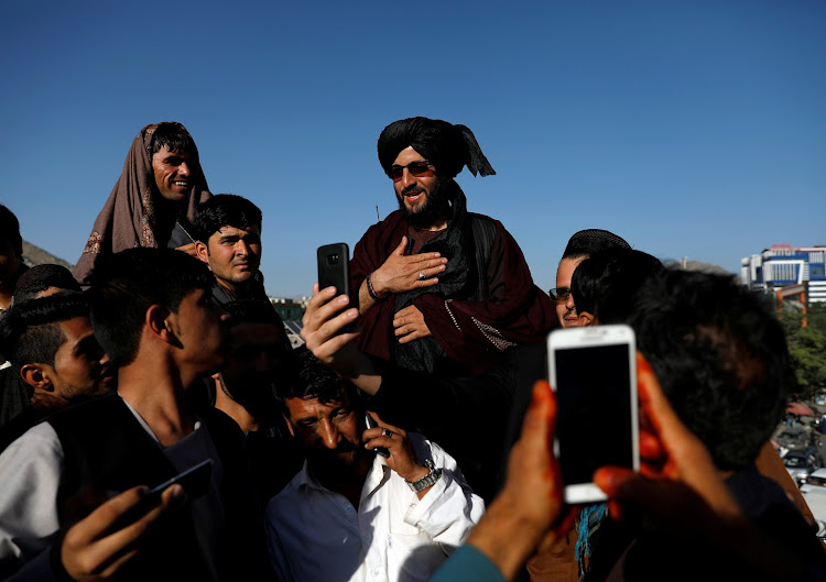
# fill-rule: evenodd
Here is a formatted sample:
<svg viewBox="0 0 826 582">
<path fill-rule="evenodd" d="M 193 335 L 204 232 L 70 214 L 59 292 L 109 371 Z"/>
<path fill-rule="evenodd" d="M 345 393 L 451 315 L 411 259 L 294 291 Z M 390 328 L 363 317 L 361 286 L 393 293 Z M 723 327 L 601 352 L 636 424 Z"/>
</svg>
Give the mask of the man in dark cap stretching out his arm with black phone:
<svg viewBox="0 0 826 582">
<path fill-rule="evenodd" d="M 564 255 L 582 260 L 611 245 L 629 246 L 611 232 L 589 229 L 570 238 Z M 568 264 L 563 259 L 562 275 L 557 274 L 559 286 L 563 282 L 559 277 Z M 547 377 L 545 342 L 508 350 L 501 362 L 482 374 L 443 377 L 411 373 L 399 365 L 388 365 L 382 359 L 367 358 L 355 349 L 365 330 L 337 334 L 343 326 L 330 328 L 333 319 L 351 323 L 357 317 L 355 308 L 340 312 L 348 304 L 336 295 L 332 287 L 314 288 L 301 332 L 307 348 L 337 373 L 352 378 L 369 395 L 371 409 L 382 418 L 438 441 L 458 460 L 474 491 L 486 501 L 492 498 L 503 455 L 519 437 L 531 387 L 536 380 Z M 565 314 L 565 306 L 562 307 L 561 318 Z M 552 317 L 544 333 L 556 327 L 557 319 Z M 480 426 L 485 430 L 480 431 Z"/>
</svg>

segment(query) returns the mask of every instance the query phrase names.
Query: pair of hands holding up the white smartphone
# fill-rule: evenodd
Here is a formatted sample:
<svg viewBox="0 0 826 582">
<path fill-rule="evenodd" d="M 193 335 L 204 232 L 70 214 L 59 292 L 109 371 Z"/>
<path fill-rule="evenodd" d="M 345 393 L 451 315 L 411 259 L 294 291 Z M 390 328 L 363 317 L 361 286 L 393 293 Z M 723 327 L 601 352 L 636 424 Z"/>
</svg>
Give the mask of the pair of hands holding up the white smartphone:
<svg viewBox="0 0 826 582">
<path fill-rule="evenodd" d="M 742 516 L 705 446 L 674 413 L 639 352 L 637 362 L 644 427 L 641 470 L 605 466 L 594 475 L 609 496 L 611 516 L 621 518 L 633 508 L 656 519 L 663 530 L 708 540 L 741 571 L 758 572 L 761 580 L 803 580 L 806 565 Z M 506 484 L 467 540 L 506 580 L 515 580 L 524 562 L 567 531 L 574 518 L 563 503 L 553 454 L 555 420 L 555 395 L 546 382 L 536 382 L 522 435 L 511 450 Z M 450 560 L 432 580 L 463 580 L 461 567 L 453 570 L 449 564 Z"/>
</svg>

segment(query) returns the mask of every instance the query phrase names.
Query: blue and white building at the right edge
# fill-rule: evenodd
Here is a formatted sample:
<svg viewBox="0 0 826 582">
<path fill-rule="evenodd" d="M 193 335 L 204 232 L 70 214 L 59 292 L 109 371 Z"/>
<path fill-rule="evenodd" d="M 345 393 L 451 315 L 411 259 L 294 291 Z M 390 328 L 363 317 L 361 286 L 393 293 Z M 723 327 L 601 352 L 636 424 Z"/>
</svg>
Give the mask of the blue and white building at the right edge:
<svg viewBox="0 0 826 582">
<path fill-rule="evenodd" d="M 826 303 L 826 246 L 774 244 L 741 261 L 740 281 L 772 294 L 779 305 Z"/>
</svg>

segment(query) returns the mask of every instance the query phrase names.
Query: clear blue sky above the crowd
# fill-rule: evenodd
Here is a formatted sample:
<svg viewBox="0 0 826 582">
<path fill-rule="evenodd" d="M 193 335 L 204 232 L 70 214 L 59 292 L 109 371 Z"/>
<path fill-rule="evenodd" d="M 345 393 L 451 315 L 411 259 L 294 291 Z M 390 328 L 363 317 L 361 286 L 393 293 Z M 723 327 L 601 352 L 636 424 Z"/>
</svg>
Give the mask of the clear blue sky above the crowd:
<svg viewBox="0 0 826 582">
<path fill-rule="evenodd" d="M 6 2 L 0 202 L 75 262 L 146 123 L 192 133 L 214 193 L 264 212 L 270 295 L 396 204 L 390 122 L 468 125 L 497 171 L 457 180 L 553 286 L 605 228 L 716 263 L 826 244 L 822 1 Z"/>
</svg>

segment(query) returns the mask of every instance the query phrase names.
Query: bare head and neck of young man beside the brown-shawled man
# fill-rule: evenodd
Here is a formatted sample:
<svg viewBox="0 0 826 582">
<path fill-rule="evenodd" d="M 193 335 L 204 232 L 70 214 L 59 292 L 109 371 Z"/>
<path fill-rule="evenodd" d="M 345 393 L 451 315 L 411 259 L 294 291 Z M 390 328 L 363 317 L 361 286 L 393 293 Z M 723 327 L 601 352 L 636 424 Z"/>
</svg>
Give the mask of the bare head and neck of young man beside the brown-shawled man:
<svg viewBox="0 0 826 582">
<path fill-rule="evenodd" d="M 261 210 L 247 198 L 219 194 L 198 207 L 194 227 L 198 259 L 215 275 L 213 297 L 220 305 L 264 299 L 261 264 Z"/>
</svg>

